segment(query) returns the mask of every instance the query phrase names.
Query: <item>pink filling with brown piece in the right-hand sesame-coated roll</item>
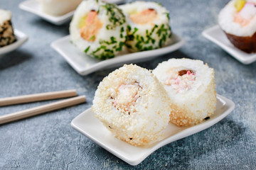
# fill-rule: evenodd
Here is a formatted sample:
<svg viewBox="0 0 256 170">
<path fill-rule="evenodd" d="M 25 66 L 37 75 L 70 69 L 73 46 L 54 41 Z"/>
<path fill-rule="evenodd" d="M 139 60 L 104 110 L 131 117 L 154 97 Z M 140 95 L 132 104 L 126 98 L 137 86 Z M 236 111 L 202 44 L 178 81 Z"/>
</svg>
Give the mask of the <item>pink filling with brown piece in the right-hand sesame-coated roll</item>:
<svg viewBox="0 0 256 170">
<path fill-rule="evenodd" d="M 178 72 L 171 70 L 168 75 L 164 84 L 171 86 L 177 93 L 190 90 L 196 80 L 196 74 L 192 70 L 183 69 Z"/>
</svg>

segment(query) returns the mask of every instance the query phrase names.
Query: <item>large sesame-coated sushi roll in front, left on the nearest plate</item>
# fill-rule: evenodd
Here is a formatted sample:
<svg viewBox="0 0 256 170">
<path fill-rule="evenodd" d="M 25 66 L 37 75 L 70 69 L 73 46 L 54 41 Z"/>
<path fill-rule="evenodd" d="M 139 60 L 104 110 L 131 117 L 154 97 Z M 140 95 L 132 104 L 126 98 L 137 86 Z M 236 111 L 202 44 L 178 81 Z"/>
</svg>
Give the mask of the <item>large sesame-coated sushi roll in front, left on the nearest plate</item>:
<svg viewBox="0 0 256 170">
<path fill-rule="evenodd" d="M 105 127 L 131 145 L 159 140 L 169 123 L 169 97 L 147 69 L 124 65 L 100 82 L 92 111 Z"/>
</svg>

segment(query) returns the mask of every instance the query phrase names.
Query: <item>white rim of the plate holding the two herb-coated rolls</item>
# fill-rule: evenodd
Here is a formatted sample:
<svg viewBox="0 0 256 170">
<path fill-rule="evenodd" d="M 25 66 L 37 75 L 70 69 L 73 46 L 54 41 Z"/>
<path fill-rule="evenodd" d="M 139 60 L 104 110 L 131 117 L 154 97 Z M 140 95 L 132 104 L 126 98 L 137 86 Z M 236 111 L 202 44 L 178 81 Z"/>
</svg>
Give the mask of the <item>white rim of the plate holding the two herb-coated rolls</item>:
<svg viewBox="0 0 256 170">
<path fill-rule="evenodd" d="M 176 42 L 174 42 L 171 45 L 168 45 L 166 47 L 161 47 L 159 49 L 154 49 L 154 50 L 148 50 L 148 51 L 142 51 L 142 52 L 134 52 L 136 54 L 140 54 L 140 55 L 148 55 L 150 52 L 152 51 L 159 51 L 161 52 L 160 55 L 164 55 L 164 54 L 168 54 L 169 52 L 174 52 L 176 50 L 178 50 L 179 48 L 181 48 L 185 43 L 186 40 L 184 40 L 181 36 L 178 36 L 176 33 L 173 33 L 173 35 L 176 37 Z M 97 62 L 96 64 L 93 64 L 90 67 L 87 67 L 85 69 L 80 69 L 80 67 L 77 67 L 75 62 L 73 62 L 73 60 L 71 60 L 71 58 L 65 54 L 65 52 L 63 52 L 63 50 L 59 47 L 59 44 L 61 42 L 65 42 L 65 41 L 69 41 L 70 40 L 70 35 L 66 35 L 63 38 L 59 38 L 58 40 L 55 40 L 53 42 L 50 43 L 50 47 L 53 48 L 53 50 L 55 50 L 56 52 L 58 52 L 67 62 L 68 64 L 70 64 L 71 67 L 73 67 L 73 69 L 75 69 L 76 72 L 78 72 L 78 74 L 85 76 L 87 74 L 90 74 L 92 72 L 96 72 L 99 69 L 103 69 L 107 66 L 113 65 L 113 64 L 118 64 L 121 62 L 132 62 L 133 60 L 139 59 L 138 57 L 133 57 L 134 53 L 130 53 L 127 55 L 122 55 L 119 57 L 114 57 L 112 59 L 108 59 L 108 60 L 102 60 L 100 62 Z M 172 48 L 172 50 L 169 50 L 169 48 Z M 167 51 L 167 52 L 164 52 Z M 152 55 L 148 58 L 154 58 L 157 57 L 159 55 Z M 126 60 L 124 60 L 124 58 L 127 58 Z M 132 59 L 131 59 L 132 58 Z M 140 59 L 145 59 L 146 57 L 141 57 Z M 121 60 L 121 61 L 119 61 Z M 113 62 L 114 61 L 114 62 Z"/>
</svg>

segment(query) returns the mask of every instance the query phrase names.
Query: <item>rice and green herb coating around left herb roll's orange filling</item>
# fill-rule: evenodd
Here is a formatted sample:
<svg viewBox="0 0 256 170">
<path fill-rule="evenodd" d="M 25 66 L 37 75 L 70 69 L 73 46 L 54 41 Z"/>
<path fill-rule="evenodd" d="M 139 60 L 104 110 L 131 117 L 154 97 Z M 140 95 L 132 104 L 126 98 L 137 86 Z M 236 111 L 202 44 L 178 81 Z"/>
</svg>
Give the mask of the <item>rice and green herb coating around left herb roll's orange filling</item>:
<svg viewBox="0 0 256 170">
<path fill-rule="evenodd" d="M 78 26 L 82 17 L 92 10 L 98 11 L 98 17 L 103 23 L 93 42 L 87 41 L 80 36 L 80 28 Z M 114 16 L 112 16 L 112 12 L 114 12 Z M 113 23 L 111 21 L 112 18 L 116 18 L 117 22 Z M 125 16 L 116 5 L 102 1 L 82 1 L 70 23 L 70 39 L 81 52 L 85 52 L 91 57 L 107 59 L 122 51 L 126 26 Z"/>
</svg>

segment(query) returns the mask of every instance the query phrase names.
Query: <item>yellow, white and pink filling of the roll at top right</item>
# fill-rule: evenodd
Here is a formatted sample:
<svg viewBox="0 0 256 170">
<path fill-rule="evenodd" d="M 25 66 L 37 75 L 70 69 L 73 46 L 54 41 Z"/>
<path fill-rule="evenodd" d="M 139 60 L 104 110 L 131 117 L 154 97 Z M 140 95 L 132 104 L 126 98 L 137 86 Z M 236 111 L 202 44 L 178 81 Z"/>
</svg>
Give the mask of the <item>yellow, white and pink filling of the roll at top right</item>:
<svg viewBox="0 0 256 170">
<path fill-rule="evenodd" d="M 247 26 L 256 15 L 255 3 L 238 0 L 235 2 L 235 8 L 238 13 L 235 13 L 234 22 L 239 23 L 242 27 Z"/>
</svg>

